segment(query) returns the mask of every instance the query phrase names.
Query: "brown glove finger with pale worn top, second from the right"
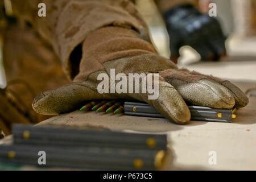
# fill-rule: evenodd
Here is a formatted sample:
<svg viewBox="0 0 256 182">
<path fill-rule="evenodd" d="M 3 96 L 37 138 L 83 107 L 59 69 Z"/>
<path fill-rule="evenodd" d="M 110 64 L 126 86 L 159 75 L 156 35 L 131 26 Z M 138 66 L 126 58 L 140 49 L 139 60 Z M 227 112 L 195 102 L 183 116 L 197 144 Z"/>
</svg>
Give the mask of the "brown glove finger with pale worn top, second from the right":
<svg viewBox="0 0 256 182">
<path fill-rule="evenodd" d="M 163 71 L 160 75 L 192 105 L 218 109 L 232 109 L 235 105 L 233 94 L 225 86 L 203 75 L 192 75 L 187 70 Z"/>
</svg>

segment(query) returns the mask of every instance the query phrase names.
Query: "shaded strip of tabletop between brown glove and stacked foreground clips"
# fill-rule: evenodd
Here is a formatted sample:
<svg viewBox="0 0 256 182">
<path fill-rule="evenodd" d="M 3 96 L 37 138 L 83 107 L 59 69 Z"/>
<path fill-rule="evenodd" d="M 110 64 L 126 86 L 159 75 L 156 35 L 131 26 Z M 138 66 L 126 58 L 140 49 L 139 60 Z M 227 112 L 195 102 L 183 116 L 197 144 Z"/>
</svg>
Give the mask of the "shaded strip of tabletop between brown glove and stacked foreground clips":
<svg viewBox="0 0 256 182">
<path fill-rule="evenodd" d="M 207 122 L 191 122 L 186 126 L 204 125 Z M 134 117 L 130 115 L 115 115 L 105 113 L 74 111 L 47 119 L 39 125 L 67 125 L 105 127 L 110 130 L 129 130 L 141 133 L 166 133 L 182 130 L 184 126 L 177 125 L 164 118 Z"/>
</svg>

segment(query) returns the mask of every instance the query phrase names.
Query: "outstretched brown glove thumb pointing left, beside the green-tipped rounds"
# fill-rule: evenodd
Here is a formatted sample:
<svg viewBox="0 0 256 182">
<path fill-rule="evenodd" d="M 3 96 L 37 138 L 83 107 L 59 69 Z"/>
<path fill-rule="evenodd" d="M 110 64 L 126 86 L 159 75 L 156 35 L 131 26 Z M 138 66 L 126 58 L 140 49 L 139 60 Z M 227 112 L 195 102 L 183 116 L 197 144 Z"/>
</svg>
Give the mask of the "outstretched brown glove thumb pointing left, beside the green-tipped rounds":
<svg viewBox="0 0 256 182">
<path fill-rule="evenodd" d="M 76 110 L 84 101 L 115 99 L 110 94 L 99 94 L 94 88 L 87 82 L 64 85 L 36 96 L 32 107 L 39 114 L 56 115 Z"/>
</svg>

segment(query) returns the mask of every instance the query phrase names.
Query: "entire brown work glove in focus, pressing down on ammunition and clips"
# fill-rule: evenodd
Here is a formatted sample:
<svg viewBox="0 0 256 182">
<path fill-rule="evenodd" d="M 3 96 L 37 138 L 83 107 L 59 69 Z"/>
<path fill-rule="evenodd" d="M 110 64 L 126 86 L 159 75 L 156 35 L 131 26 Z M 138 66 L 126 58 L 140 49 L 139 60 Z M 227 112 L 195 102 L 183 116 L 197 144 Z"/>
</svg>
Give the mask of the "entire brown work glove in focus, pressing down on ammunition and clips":
<svg viewBox="0 0 256 182">
<path fill-rule="evenodd" d="M 35 111 L 55 115 L 79 109 L 88 100 L 123 98 L 147 102 L 170 121 L 184 124 L 191 118 L 185 101 L 226 109 L 247 105 L 245 94 L 229 81 L 177 69 L 170 60 L 157 55 L 152 44 L 143 40 L 138 32 L 129 28 L 100 28 L 84 40 L 81 48 L 80 71 L 74 81 L 36 97 L 32 105 Z M 115 74 L 125 75 L 159 73 L 159 97 L 149 100 L 148 92 L 98 93 L 100 81 L 97 76 L 100 73 L 110 75 L 110 69 L 115 69 Z M 142 82 L 137 86 L 142 85 Z"/>
</svg>

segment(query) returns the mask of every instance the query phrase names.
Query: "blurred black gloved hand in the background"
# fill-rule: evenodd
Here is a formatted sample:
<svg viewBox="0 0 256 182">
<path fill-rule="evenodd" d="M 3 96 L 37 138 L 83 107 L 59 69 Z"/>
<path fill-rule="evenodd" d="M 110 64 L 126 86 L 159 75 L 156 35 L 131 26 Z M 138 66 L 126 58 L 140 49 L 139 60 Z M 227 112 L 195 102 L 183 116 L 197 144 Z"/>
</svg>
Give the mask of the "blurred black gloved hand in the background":
<svg viewBox="0 0 256 182">
<path fill-rule="evenodd" d="M 164 13 L 170 36 L 171 59 L 177 63 L 182 46 L 191 46 L 202 60 L 219 60 L 226 55 L 225 36 L 217 19 L 201 14 L 192 5 L 182 5 Z"/>
</svg>

